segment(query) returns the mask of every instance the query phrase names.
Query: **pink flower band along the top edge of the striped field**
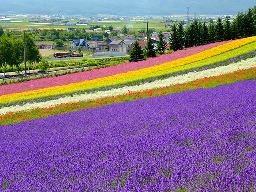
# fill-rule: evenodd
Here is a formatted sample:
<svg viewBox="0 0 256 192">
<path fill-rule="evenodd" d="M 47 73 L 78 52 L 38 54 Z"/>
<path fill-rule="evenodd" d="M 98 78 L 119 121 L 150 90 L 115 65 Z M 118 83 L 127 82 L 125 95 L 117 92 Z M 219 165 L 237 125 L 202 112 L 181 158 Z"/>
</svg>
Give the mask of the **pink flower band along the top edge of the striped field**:
<svg viewBox="0 0 256 192">
<path fill-rule="evenodd" d="M 27 82 L 21 82 L 17 84 L 8 84 L 0 86 L 0 95 L 12 94 L 25 92 L 30 90 L 38 90 L 42 88 L 48 88 L 53 86 L 61 86 L 70 83 L 81 82 L 85 80 L 92 80 L 96 78 L 102 78 L 106 76 L 112 76 L 115 74 L 126 73 L 128 71 L 140 70 L 142 68 L 147 68 L 155 65 L 159 65 L 162 63 L 174 61 L 180 58 L 184 58 L 204 50 L 208 50 L 210 48 L 225 44 L 230 41 L 217 42 L 212 44 L 207 44 L 198 47 L 188 48 L 186 50 L 178 50 L 176 52 L 172 52 L 170 54 L 163 54 L 156 58 L 149 58 L 148 60 L 140 61 L 140 62 L 128 62 L 124 64 L 119 64 L 116 66 L 111 66 L 108 68 L 100 68 L 98 70 L 84 71 L 78 72 L 75 74 L 67 74 L 58 77 L 49 77 L 49 78 L 41 78 L 36 80 L 30 80 Z"/>
</svg>

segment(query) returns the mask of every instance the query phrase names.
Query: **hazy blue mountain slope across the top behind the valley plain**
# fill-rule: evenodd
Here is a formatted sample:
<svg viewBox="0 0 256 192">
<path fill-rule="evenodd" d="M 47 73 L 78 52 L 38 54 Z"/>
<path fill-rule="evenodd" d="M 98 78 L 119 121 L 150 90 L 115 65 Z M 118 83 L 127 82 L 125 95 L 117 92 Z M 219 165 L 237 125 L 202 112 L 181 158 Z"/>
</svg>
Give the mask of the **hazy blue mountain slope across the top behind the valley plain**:
<svg viewBox="0 0 256 192">
<path fill-rule="evenodd" d="M 255 0 L 9 0 L 0 13 L 118 16 L 190 14 L 236 15 L 255 5 Z"/>
</svg>

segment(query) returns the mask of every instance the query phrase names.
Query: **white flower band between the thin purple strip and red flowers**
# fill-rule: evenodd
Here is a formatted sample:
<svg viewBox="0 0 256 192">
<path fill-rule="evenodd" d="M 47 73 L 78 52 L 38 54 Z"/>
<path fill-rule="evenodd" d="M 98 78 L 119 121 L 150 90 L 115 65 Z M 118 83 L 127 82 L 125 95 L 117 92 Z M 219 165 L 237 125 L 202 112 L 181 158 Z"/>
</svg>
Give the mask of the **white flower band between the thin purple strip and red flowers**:
<svg viewBox="0 0 256 192">
<path fill-rule="evenodd" d="M 247 60 L 242 60 L 240 62 L 236 62 L 233 64 L 229 64 L 228 66 L 220 66 L 214 69 L 204 70 L 200 72 L 190 72 L 185 75 L 170 77 L 164 80 L 156 80 L 154 82 L 150 82 L 142 85 L 127 86 L 124 88 L 116 88 L 116 89 L 107 90 L 107 91 L 98 91 L 98 92 L 86 93 L 82 95 L 66 96 L 58 100 L 50 100 L 46 102 L 25 104 L 24 106 L 16 105 L 16 106 L 4 107 L 0 109 L 0 115 L 6 114 L 7 112 L 16 112 L 19 110 L 30 110 L 32 108 L 45 108 L 45 107 L 55 106 L 57 104 L 79 102 L 80 100 L 96 99 L 102 96 L 106 96 L 106 97 L 115 96 L 118 94 L 125 94 L 129 90 L 140 91 L 140 90 L 152 89 L 156 87 L 170 86 L 172 84 L 184 83 L 184 82 L 193 81 L 193 80 L 204 78 L 204 77 L 218 76 L 218 75 L 225 74 L 228 72 L 233 72 L 239 69 L 248 69 L 254 66 L 256 66 L 256 57 L 250 58 Z"/>
</svg>

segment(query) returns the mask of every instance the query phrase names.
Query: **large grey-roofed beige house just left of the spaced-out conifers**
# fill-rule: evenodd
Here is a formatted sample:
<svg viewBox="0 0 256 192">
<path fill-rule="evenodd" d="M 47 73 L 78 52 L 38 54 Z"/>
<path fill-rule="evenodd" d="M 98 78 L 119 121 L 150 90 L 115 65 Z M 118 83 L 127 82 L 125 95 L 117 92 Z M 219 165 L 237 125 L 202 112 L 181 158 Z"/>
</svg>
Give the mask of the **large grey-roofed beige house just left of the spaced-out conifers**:
<svg viewBox="0 0 256 192">
<path fill-rule="evenodd" d="M 126 54 L 130 54 L 133 44 L 134 40 L 114 40 L 109 44 L 110 51 L 126 52 Z"/>
</svg>

